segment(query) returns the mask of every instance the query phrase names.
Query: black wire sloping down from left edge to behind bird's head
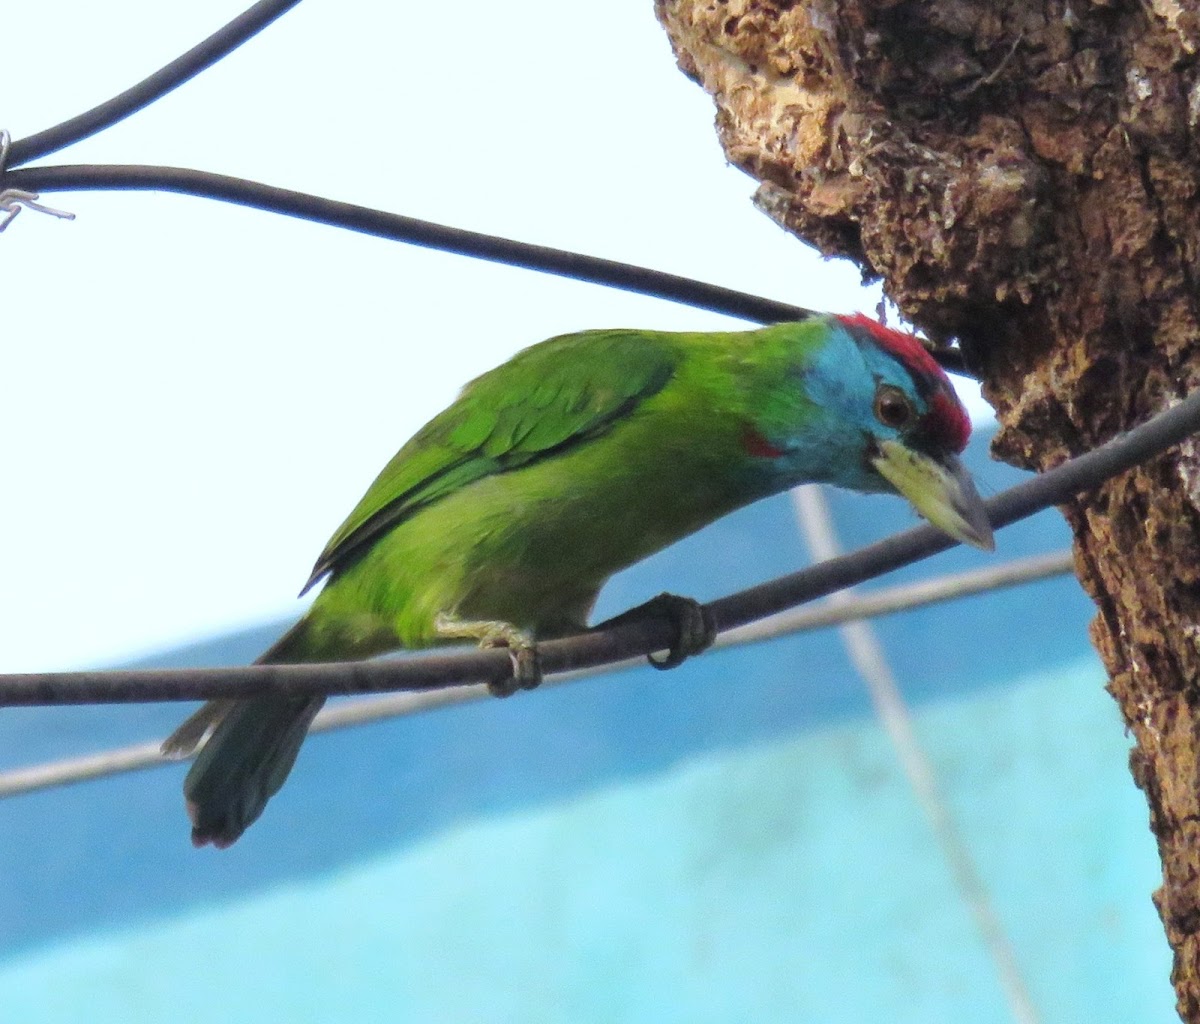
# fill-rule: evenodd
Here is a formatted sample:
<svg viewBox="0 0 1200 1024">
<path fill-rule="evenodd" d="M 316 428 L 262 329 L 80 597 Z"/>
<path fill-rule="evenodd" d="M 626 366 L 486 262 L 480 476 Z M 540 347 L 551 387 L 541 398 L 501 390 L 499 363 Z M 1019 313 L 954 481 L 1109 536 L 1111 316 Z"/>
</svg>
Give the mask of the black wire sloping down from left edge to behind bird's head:
<svg viewBox="0 0 1200 1024">
<path fill-rule="evenodd" d="M 11 187 L 29 192 L 148 190 L 221 199 L 426 248 L 623 288 L 626 292 L 668 299 L 755 323 L 803 321 L 815 316 L 812 310 L 802 306 L 722 288 L 719 285 L 708 285 L 677 274 L 650 270 L 647 267 L 436 224 L 306 192 L 277 188 L 259 181 L 247 181 L 244 178 L 212 174 L 208 170 L 142 164 L 62 164 L 14 170 L 5 180 Z M 964 375 L 967 372 L 961 354 L 956 351 L 941 349 L 935 353 L 935 358 L 947 370 Z"/>
</svg>

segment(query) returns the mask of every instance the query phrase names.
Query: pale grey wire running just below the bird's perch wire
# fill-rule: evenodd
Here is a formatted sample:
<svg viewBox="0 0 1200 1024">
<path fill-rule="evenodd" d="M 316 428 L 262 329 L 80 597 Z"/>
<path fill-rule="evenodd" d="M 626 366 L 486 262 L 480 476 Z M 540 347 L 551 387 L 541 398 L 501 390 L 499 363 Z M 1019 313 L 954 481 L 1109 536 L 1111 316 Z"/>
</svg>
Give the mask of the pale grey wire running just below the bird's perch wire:
<svg viewBox="0 0 1200 1024">
<path fill-rule="evenodd" d="M 1072 570 L 1070 552 L 1055 552 L 1031 558 L 1020 558 L 1003 565 L 990 565 L 970 573 L 955 573 L 934 580 L 922 580 L 900 587 L 889 587 L 871 594 L 863 594 L 839 605 L 821 605 L 817 607 L 796 609 L 762 622 L 731 629 L 716 639 L 714 647 L 738 647 L 746 643 L 760 643 L 806 630 L 823 629 L 854 618 L 869 618 L 880 615 L 892 615 L 912 611 L 940 601 L 959 600 L 974 594 L 988 593 L 1003 587 L 1046 580 L 1066 575 Z M 572 682 L 601 672 L 612 672 L 620 667 L 636 667 L 641 658 L 606 666 L 566 672 L 547 679 L 544 685 L 557 685 Z M 487 687 L 482 684 L 452 687 L 426 693 L 400 693 L 384 696 L 360 697 L 348 700 L 332 707 L 326 707 L 313 721 L 312 732 L 329 732 L 366 725 L 373 721 L 434 711 L 451 705 L 488 697 Z M 13 768 L 0 772 L 0 798 L 36 792 L 37 790 L 72 783 L 89 782 L 107 776 L 133 772 L 174 763 L 163 757 L 160 750 L 162 741 L 136 743 L 114 750 L 102 750 L 80 757 L 68 757 L 49 761 L 28 768 Z"/>
</svg>

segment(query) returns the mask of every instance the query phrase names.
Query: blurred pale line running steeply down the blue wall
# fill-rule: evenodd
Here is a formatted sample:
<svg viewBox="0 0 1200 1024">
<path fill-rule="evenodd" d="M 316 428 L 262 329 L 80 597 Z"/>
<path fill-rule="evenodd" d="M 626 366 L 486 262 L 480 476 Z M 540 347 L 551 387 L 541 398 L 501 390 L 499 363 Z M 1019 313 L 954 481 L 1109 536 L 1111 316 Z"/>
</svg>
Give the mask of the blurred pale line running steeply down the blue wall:
<svg viewBox="0 0 1200 1024">
<path fill-rule="evenodd" d="M 841 543 L 838 540 L 833 516 L 829 514 L 829 503 L 821 486 L 809 484 L 794 489 L 792 503 L 812 557 L 836 558 L 841 553 Z M 836 607 L 853 600 L 853 591 L 838 591 L 829 595 L 828 604 Z M 954 815 L 942 797 L 934 765 L 917 738 L 912 715 L 905 705 L 878 635 L 871 623 L 862 618 L 847 621 L 840 631 L 851 664 L 866 683 L 871 702 L 892 739 L 908 785 L 942 849 L 942 856 L 950 868 L 959 896 L 974 918 L 976 928 L 1000 976 L 1001 988 L 1008 999 L 1013 1019 L 1018 1024 L 1038 1024 L 1038 1012 L 1021 976 L 1016 951 L 1004 934 L 1000 917 L 991 905 L 988 886 L 976 867 Z"/>
</svg>

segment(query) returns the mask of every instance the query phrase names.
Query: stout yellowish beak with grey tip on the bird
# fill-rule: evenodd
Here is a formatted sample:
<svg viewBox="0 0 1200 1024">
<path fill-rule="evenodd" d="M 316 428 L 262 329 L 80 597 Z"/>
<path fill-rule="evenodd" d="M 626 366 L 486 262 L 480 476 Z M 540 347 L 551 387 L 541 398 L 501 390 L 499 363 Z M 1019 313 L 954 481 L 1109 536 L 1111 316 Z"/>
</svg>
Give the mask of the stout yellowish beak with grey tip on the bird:
<svg viewBox="0 0 1200 1024">
<path fill-rule="evenodd" d="M 995 550 L 983 499 L 956 456 L 937 460 L 898 441 L 881 441 L 871 465 L 938 529 L 964 544 Z"/>
</svg>

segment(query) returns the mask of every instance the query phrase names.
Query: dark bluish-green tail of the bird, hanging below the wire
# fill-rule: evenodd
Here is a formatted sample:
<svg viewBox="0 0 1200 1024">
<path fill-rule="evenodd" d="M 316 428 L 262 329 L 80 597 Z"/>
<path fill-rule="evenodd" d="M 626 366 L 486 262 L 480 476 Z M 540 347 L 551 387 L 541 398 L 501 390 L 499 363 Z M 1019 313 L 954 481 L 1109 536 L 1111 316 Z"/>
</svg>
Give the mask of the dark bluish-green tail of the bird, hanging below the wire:
<svg viewBox="0 0 1200 1024">
<path fill-rule="evenodd" d="M 256 664 L 307 660 L 319 659 L 312 657 L 306 617 Z M 175 757 L 204 743 L 184 780 L 193 845 L 224 849 L 258 819 L 324 702 L 320 696 L 209 701 L 168 737 L 162 751 Z"/>
</svg>

